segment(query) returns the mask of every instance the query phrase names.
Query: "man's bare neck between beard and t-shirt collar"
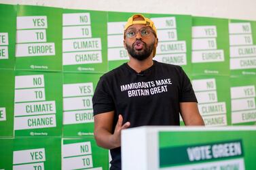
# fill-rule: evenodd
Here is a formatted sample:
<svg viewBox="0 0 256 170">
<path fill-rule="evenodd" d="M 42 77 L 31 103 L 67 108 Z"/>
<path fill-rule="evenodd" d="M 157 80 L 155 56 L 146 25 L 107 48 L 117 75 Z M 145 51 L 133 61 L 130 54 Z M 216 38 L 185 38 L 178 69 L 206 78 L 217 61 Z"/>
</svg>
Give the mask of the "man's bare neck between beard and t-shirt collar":
<svg viewBox="0 0 256 170">
<path fill-rule="evenodd" d="M 135 70 L 136 72 L 141 72 L 143 70 L 147 70 L 147 68 L 151 67 L 153 65 L 152 57 L 149 57 L 143 61 L 136 60 L 132 57 L 130 57 L 130 61 L 128 62 L 128 65 Z"/>
</svg>

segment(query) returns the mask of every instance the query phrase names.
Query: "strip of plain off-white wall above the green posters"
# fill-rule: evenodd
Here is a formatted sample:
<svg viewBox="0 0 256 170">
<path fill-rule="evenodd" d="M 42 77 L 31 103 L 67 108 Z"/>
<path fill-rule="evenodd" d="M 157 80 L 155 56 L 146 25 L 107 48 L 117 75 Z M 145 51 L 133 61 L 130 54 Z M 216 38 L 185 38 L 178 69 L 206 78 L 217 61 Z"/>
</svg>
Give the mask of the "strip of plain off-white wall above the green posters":
<svg viewBox="0 0 256 170">
<path fill-rule="evenodd" d="M 65 7 L 69 9 L 92 9 L 117 12 L 189 14 L 192 16 L 256 20 L 256 1 L 254 0 L 1 0 L 0 3 L 45 5 L 50 7 Z"/>
</svg>

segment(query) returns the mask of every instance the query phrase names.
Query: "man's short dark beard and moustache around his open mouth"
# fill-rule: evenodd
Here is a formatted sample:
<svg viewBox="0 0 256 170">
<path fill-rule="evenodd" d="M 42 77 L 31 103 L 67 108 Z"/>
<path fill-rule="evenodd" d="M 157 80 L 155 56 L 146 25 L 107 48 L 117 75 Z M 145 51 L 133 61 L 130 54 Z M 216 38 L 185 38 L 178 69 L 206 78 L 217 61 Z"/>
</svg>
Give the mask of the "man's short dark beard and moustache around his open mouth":
<svg viewBox="0 0 256 170">
<path fill-rule="evenodd" d="M 132 58 L 135 58 L 136 60 L 140 60 L 140 61 L 149 58 L 150 54 L 153 51 L 154 42 L 147 45 L 146 43 L 141 41 L 141 43 L 143 43 L 143 46 L 144 46 L 144 49 L 141 49 L 141 50 L 136 50 L 134 48 L 135 43 L 136 43 L 136 41 L 134 43 L 132 43 L 132 45 L 128 45 L 126 43 L 126 48 L 127 48 L 128 54 L 130 54 L 130 56 L 132 56 Z"/>
</svg>

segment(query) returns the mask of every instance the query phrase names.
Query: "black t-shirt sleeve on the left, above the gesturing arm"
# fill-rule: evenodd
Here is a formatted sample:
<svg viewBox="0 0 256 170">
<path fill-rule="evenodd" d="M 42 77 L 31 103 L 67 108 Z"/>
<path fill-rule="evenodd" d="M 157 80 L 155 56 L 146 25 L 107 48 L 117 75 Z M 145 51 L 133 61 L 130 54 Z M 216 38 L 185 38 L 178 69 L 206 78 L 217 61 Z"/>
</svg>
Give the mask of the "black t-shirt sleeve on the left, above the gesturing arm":
<svg viewBox="0 0 256 170">
<path fill-rule="evenodd" d="M 100 77 L 92 98 L 94 116 L 115 109 L 109 90 L 107 81 Z"/>
</svg>

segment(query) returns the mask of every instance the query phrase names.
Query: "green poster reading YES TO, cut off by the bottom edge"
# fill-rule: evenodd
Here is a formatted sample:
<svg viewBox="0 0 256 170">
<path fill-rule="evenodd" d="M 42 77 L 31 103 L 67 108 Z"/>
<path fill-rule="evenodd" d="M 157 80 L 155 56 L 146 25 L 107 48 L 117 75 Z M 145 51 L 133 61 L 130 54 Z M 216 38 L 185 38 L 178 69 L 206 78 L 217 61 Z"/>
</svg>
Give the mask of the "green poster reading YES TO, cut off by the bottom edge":
<svg viewBox="0 0 256 170">
<path fill-rule="evenodd" d="M 14 139 L 13 169 L 61 169 L 60 137 L 18 137 Z"/>
</svg>

